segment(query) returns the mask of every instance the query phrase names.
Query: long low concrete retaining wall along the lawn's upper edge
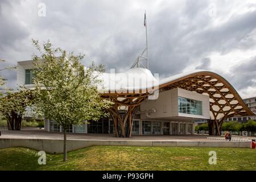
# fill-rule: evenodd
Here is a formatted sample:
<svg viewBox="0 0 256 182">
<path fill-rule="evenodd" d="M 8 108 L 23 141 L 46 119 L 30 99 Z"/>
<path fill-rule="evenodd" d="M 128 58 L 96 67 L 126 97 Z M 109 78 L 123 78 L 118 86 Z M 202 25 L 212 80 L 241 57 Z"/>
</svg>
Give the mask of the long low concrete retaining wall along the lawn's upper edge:
<svg viewBox="0 0 256 182">
<path fill-rule="evenodd" d="M 67 150 L 73 151 L 89 146 L 161 146 L 161 147 L 239 147 L 250 148 L 250 142 L 227 141 L 120 141 L 120 140 L 67 140 Z M 63 152 L 63 140 L 61 139 L 9 139 L 0 138 L 0 148 L 27 147 L 34 150 L 43 150 L 52 154 Z"/>
</svg>

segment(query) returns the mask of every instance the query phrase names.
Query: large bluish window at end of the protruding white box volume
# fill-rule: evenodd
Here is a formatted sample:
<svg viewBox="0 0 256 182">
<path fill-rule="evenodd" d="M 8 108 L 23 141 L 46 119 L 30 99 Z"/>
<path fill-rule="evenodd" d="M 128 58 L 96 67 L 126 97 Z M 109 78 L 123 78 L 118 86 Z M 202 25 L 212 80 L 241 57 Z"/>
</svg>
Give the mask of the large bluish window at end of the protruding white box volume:
<svg viewBox="0 0 256 182">
<path fill-rule="evenodd" d="M 202 101 L 196 101 L 189 98 L 178 97 L 179 113 L 185 114 L 202 114 Z"/>
</svg>

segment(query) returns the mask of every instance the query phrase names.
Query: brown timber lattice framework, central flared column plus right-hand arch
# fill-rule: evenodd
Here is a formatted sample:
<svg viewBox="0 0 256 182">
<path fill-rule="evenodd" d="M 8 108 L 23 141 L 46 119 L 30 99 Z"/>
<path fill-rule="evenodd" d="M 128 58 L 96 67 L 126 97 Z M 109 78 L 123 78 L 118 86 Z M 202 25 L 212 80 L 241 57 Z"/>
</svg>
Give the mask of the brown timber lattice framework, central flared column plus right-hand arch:
<svg viewBox="0 0 256 182">
<path fill-rule="evenodd" d="M 236 92 L 232 85 L 225 78 L 213 72 L 199 71 L 189 75 L 183 75 L 161 83 L 159 81 L 159 91 L 181 88 L 209 96 L 210 100 L 210 119 L 208 121 L 210 135 L 214 135 L 214 126 L 216 135 L 220 135 L 222 123 L 226 118 L 234 115 L 254 115 L 246 106 L 242 98 Z M 152 89 L 152 88 L 150 88 Z M 114 122 L 115 136 L 130 137 L 133 127 L 132 115 L 136 108 L 149 95 L 145 90 L 134 90 L 133 93 L 104 93 L 102 97 L 111 98 L 114 102 L 109 113 L 112 115 Z M 118 108 L 126 107 L 126 113 L 121 117 Z M 118 125 L 121 130 L 118 130 Z M 127 125 L 127 127 L 126 127 Z"/>
</svg>

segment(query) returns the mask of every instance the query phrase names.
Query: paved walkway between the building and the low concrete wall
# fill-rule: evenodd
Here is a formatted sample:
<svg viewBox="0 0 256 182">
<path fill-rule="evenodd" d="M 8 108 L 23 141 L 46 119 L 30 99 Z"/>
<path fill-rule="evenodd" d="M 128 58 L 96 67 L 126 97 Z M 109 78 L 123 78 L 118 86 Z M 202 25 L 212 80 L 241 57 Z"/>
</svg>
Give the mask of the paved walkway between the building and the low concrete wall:
<svg viewBox="0 0 256 182">
<path fill-rule="evenodd" d="M 41 129 L 22 129 L 20 131 L 0 130 L 0 138 L 24 139 L 63 139 L 63 133 L 48 132 Z M 139 140 L 139 141 L 205 141 L 209 135 L 133 135 L 131 138 L 117 138 L 113 134 L 68 133 L 67 139 L 77 140 Z"/>
</svg>

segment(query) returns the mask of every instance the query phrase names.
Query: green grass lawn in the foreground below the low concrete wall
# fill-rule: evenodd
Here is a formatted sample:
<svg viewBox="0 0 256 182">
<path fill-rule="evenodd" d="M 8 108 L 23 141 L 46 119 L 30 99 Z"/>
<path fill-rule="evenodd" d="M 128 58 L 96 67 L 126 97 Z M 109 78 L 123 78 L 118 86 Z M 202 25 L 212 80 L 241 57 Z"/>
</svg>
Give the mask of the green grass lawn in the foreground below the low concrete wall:
<svg viewBox="0 0 256 182">
<path fill-rule="evenodd" d="M 209 151 L 217 164 L 208 163 Z M 38 164 L 37 151 L 0 149 L 0 170 L 256 170 L 256 151 L 250 148 L 94 146 L 63 155 L 47 154 Z"/>
</svg>

